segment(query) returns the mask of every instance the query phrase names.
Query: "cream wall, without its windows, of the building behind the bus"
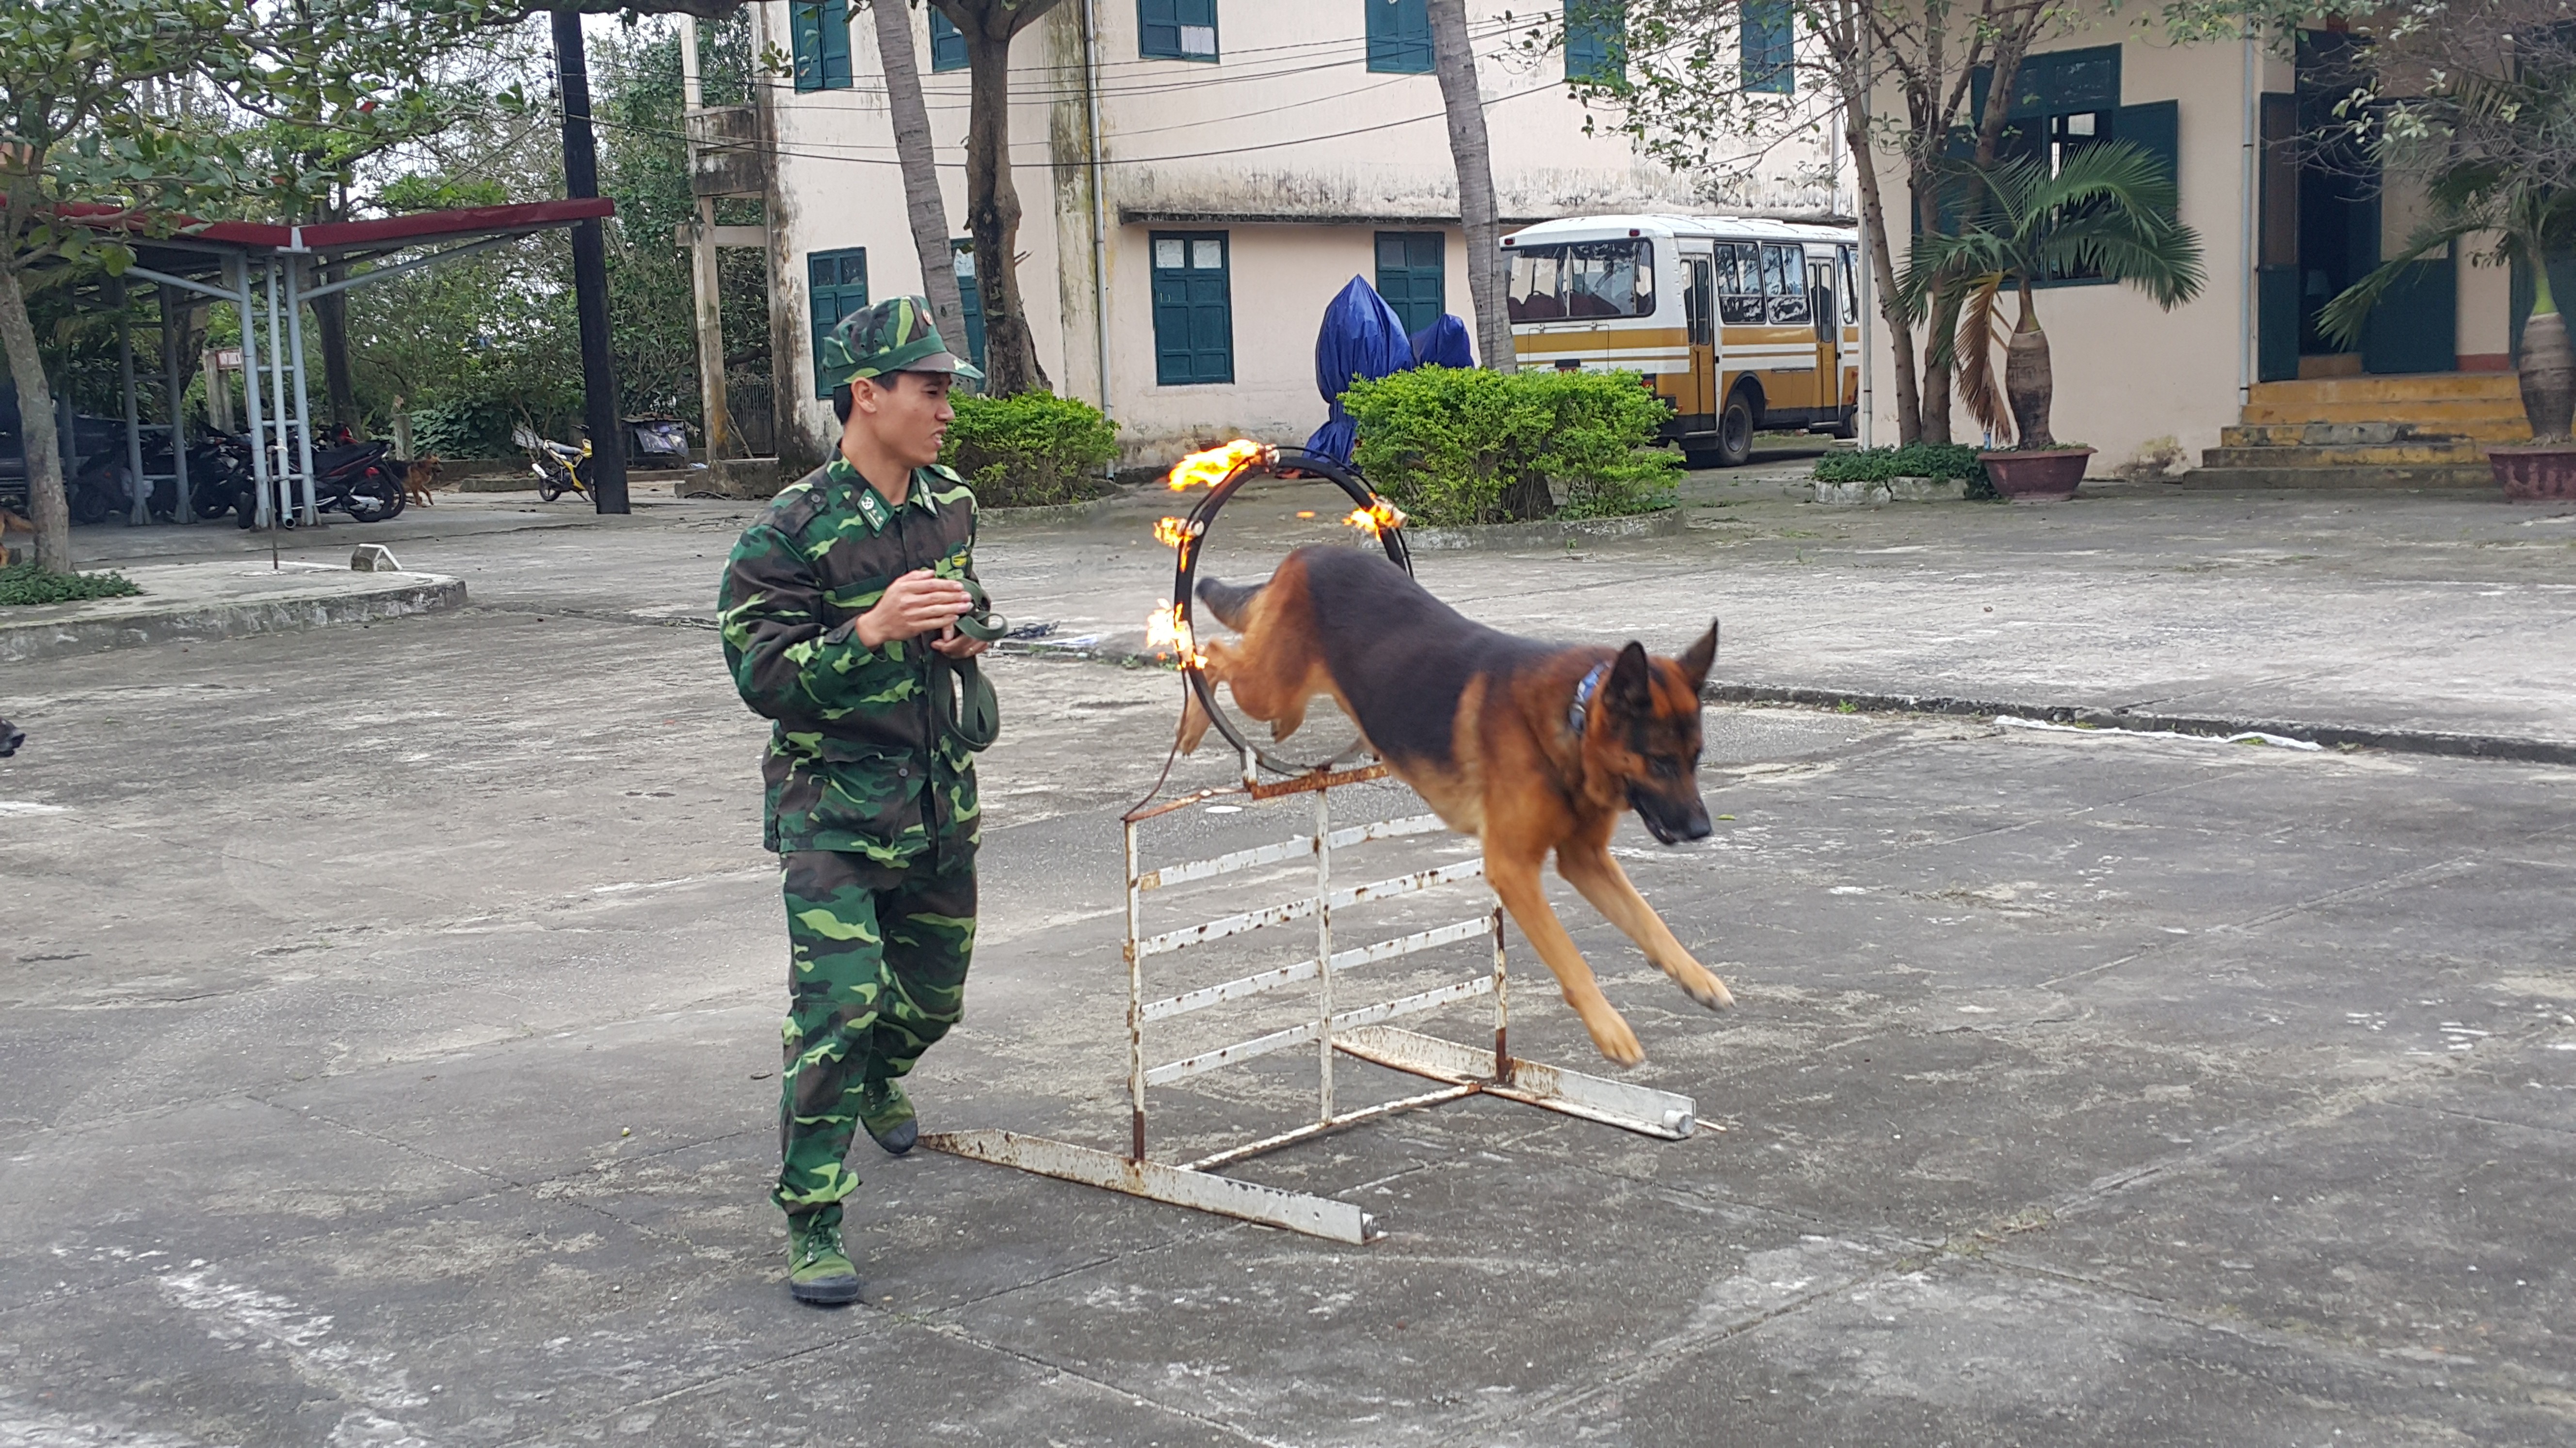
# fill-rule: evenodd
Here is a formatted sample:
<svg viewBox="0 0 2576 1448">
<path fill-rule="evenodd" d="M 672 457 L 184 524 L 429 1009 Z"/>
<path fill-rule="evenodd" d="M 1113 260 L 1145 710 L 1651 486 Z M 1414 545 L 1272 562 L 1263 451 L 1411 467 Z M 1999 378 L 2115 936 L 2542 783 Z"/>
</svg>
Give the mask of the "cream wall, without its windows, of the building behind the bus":
<svg viewBox="0 0 2576 1448">
<path fill-rule="evenodd" d="M 1108 222 L 1108 407 L 1131 459 L 1170 456 L 1203 438 L 1303 441 L 1324 420 L 1314 386 L 1314 335 L 1324 304 L 1352 276 L 1376 276 L 1376 232 L 1448 232 L 1448 309 L 1473 317 L 1466 245 L 1440 82 L 1365 67 L 1368 0 L 1221 0 L 1221 62 L 1139 57 L 1136 3 L 1092 0 L 1100 70 L 1100 211 Z M 1850 167 L 1837 167 L 1824 126 L 1788 126 L 1747 142 L 1757 162 L 1726 183 L 1672 175 L 1636 157 L 1602 116 L 1564 85 L 1564 62 L 1507 59 L 1515 0 L 1471 0 L 1484 64 L 1486 131 L 1507 222 L 1587 211 L 1759 209 L 1850 211 Z M 786 5 L 760 5 L 786 49 Z M 1020 289 L 1038 358 L 1059 392 L 1103 399 L 1092 291 L 1092 198 L 1082 106 L 1082 15 L 1066 0 L 1012 46 L 1012 167 L 1020 188 Z M 1520 0 L 1528 21 L 1530 5 Z M 773 93 L 778 139 L 778 286 L 806 314 L 804 258 L 868 247 L 868 294 L 920 289 L 894 165 L 873 21 L 853 23 L 853 88 Z M 963 234 L 966 72 L 930 72 L 927 13 L 914 10 L 914 54 L 940 152 L 951 227 Z M 1741 175 L 1739 175 L 1741 170 Z M 1837 188 L 1839 173 L 1839 188 Z M 1234 381 L 1154 381 L 1149 232 L 1221 229 L 1231 240 Z M 788 327 L 809 348 L 806 327 Z M 796 407 L 819 453 L 835 433 L 799 358 Z M 781 407 L 786 417 L 788 410 Z"/>
</svg>

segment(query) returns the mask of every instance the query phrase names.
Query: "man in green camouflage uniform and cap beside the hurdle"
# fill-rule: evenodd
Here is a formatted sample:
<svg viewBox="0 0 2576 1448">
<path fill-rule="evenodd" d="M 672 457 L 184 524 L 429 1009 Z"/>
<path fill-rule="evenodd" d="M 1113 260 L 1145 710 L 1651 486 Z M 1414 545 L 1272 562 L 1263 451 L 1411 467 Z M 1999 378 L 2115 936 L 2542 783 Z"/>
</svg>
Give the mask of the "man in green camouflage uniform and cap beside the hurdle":
<svg viewBox="0 0 2576 1448">
<path fill-rule="evenodd" d="M 742 531 L 719 598 L 724 662 L 775 719 L 765 845 L 788 915 L 778 1188 L 788 1288 L 858 1299 L 840 1242 L 853 1123 L 886 1152 L 917 1139 L 899 1085 L 963 1013 L 974 951 L 974 752 L 943 660 L 984 649 L 974 492 L 938 466 L 951 379 L 981 381 L 896 296 L 822 343 L 840 456 Z M 969 636 L 969 631 L 976 636 Z M 989 624 L 989 621 L 987 621 Z M 956 696 L 948 696 L 956 698 Z M 987 691 L 989 703 L 989 691 Z"/>
</svg>

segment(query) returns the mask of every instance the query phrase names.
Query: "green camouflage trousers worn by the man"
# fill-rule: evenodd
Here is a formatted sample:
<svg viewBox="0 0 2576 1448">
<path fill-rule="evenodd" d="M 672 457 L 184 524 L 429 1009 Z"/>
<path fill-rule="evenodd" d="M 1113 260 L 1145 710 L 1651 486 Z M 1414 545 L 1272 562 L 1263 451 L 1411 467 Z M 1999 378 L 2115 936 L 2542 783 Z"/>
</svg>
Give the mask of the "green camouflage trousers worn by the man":
<svg viewBox="0 0 2576 1448">
<path fill-rule="evenodd" d="M 850 1196 L 842 1157 L 860 1095 L 909 1072 L 966 1013 L 974 868 L 889 871 L 840 850 L 778 861 L 791 956 L 770 1201 L 796 1214 Z"/>
</svg>

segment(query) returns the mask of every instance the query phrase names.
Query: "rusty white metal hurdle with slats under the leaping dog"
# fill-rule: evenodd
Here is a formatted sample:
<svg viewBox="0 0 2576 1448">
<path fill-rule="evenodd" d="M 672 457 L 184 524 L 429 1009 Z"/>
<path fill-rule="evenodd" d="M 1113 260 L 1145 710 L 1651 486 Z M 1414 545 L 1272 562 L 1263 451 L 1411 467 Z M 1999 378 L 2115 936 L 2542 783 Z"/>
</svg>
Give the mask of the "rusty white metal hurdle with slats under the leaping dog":
<svg viewBox="0 0 2576 1448">
<path fill-rule="evenodd" d="M 1131 1108 L 1131 1131 L 1126 1154 L 1100 1152 L 1092 1147 L 1074 1147 L 1069 1141 L 1051 1141 L 1046 1136 L 1025 1136 L 1018 1131 L 943 1131 L 922 1136 L 922 1144 L 938 1152 L 974 1157 L 979 1162 L 999 1162 L 1005 1167 L 1020 1167 L 1025 1172 L 1110 1188 L 1128 1196 L 1167 1201 L 1198 1211 L 1239 1216 L 1244 1221 L 1260 1221 L 1267 1226 L 1285 1226 L 1291 1232 L 1303 1232 L 1309 1237 L 1327 1237 L 1334 1242 L 1373 1242 L 1381 1237 L 1378 1224 L 1370 1214 L 1360 1211 L 1355 1203 L 1265 1188 L 1257 1183 L 1242 1183 L 1216 1172 L 1218 1167 L 1229 1167 L 1234 1162 L 1260 1157 L 1262 1152 L 1275 1152 L 1280 1147 L 1306 1141 L 1327 1131 L 1337 1131 L 1342 1126 L 1352 1126 L 1378 1116 L 1391 1116 L 1396 1110 L 1440 1105 L 1468 1095 L 1497 1095 L 1504 1100 L 1517 1100 L 1525 1105 L 1538 1105 L 1566 1116 L 1582 1116 L 1587 1121 L 1602 1121 L 1607 1126 L 1620 1126 L 1625 1131 L 1638 1131 L 1643 1136 L 1659 1136 L 1667 1141 L 1680 1141 L 1690 1136 L 1698 1121 L 1698 1108 L 1687 1095 L 1636 1087 L 1512 1056 L 1510 989 L 1504 974 L 1499 904 L 1481 915 L 1437 925 L 1432 930 L 1414 930 L 1394 940 L 1376 940 L 1370 946 L 1342 948 L 1342 951 L 1334 948 L 1332 920 L 1337 910 L 1368 902 L 1383 902 L 1414 891 L 1427 891 L 1443 884 L 1484 879 L 1484 861 L 1461 861 L 1394 879 L 1381 879 L 1355 886 L 1334 886 L 1332 853 L 1337 848 L 1350 848 L 1368 840 L 1394 840 L 1404 835 L 1432 835 L 1445 830 L 1445 824 L 1435 814 L 1417 814 L 1406 819 L 1376 819 L 1368 824 L 1347 824 L 1337 830 L 1332 824 L 1332 791 L 1337 786 L 1378 781 L 1386 778 L 1386 773 L 1388 773 L 1386 765 L 1365 765 L 1350 770 L 1316 770 L 1280 783 L 1257 783 L 1252 778 L 1247 757 L 1247 770 L 1244 770 L 1247 778 L 1242 786 L 1208 788 L 1126 814 L 1123 822 L 1126 822 L 1126 891 L 1128 891 L 1126 966 L 1128 966 L 1128 1108 Z M 1139 850 L 1139 827 L 1149 819 L 1195 804 L 1206 804 L 1218 796 L 1247 796 L 1255 804 L 1260 804 L 1298 794 L 1314 796 L 1311 835 L 1293 835 L 1288 840 L 1255 845 L 1247 850 L 1234 850 L 1206 861 L 1144 868 Z M 1298 855 L 1314 858 L 1311 894 L 1301 894 L 1260 910 L 1244 910 L 1218 920 L 1203 920 L 1182 930 L 1164 930 L 1157 935 L 1144 933 L 1146 894 L 1260 866 L 1278 866 L 1285 861 L 1296 861 Z M 1301 920 L 1314 920 L 1314 933 L 1316 933 L 1314 958 L 1255 971 L 1247 976 L 1226 979 L 1198 989 L 1185 989 L 1180 995 L 1167 995 L 1157 1000 L 1146 997 L 1146 961 L 1175 951 L 1188 951 L 1193 946 L 1206 946 L 1213 940 L 1247 935 L 1252 930 L 1265 930 L 1275 925 L 1293 925 Z M 1419 989 L 1396 1000 L 1381 1000 L 1370 1005 L 1352 1007 L 1337 1000 L 1340 971 L 1378 961 L 1394 961 L 1399 956 L 1412 956 L 1419 951 L 1455 946 L 1476 938 L 1492 943 L 1494 966 L 1489 974 L 1466 976 L 1432 989 Z M 1316 1000 L 1314 1018 L 1298 1025 L 1252 1036 L 1247 1041 L 1234 1041 L 1229 1046 L 1195 1051 L 1190 1056 L 1180 1056 L 1162 1064 L 1146 1064 L 1146 1025 L 1303 982 L 1314 982 L 1314 1000 Z M 1494 997 L 1492 1049 L 1461 1046 L 1455 1041 L 1443 1041 L 1437 1036 L 1422 1036 L 1417 1031 L 1386 1025 L 1388 1020 L 1417 1015 L 1461 1000 L 1473 1000 L 1479 995 Z M 1195 1074 L 1213 1072 L 1218 1067 L 1234 1067 L 1278 1051 L 1291 1051 L 1306 1043 L 1314 1043 L 1316 1049 L 1319 1080 L 1316 1080 L 1314 1121 L 1182 1165 L 1164 1165 L 1146 1157 L 1146 1092 L 1151 1087 L 1182 1082 Z M 1440 1090 L 1406 1095 L 1401 1100 L 1363 1105 L 1352 1110 L 1334 1110 L 1334 1092 L 1332 1092 L 1334 1054 L 1352 1056 L 1360 1062 L 1373 1062 L 1378 1067 L 1391 1067 L 1396 1072 L 1409 1072 L 1414 1077 L 1440 1082 Z"/>
</svg>

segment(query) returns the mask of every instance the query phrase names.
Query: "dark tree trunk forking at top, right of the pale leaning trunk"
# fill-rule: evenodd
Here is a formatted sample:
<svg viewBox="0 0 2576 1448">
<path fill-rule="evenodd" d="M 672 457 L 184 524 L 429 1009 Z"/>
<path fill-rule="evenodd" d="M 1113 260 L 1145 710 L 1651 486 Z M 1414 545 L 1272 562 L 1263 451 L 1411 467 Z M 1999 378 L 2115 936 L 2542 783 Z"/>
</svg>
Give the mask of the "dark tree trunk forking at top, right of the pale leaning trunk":
<svg viewBox="0 0 2576 1448">
<path fill-rule="evenodd" d="M 984 392 L 1054 392 L 1020 304 L 1020 191 L 1010 178 L 1010 39 L 1059 0 L 933 0 L 966 36 L 966 232 L 984 307 Z"/>
</svg>

